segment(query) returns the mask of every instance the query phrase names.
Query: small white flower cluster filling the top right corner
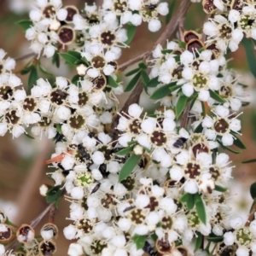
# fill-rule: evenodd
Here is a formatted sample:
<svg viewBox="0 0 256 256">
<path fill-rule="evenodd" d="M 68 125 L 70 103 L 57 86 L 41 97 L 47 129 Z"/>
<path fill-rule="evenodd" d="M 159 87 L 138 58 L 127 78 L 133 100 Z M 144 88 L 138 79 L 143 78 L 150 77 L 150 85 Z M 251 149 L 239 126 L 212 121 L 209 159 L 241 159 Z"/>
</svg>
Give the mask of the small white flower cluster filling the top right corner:
<svg viewBox="0 0 256 256">
<path fill-rule="evenodd" d="M 256 9 L 253 0 L 209 2 L 203 3 L 207 14 L 214 13 L 214 17 L 203 27 L 207 42 L 214 42 L 224 52 L 227 48 L 236 51 L 244 36 L 256 39 Z"/>
</svg>

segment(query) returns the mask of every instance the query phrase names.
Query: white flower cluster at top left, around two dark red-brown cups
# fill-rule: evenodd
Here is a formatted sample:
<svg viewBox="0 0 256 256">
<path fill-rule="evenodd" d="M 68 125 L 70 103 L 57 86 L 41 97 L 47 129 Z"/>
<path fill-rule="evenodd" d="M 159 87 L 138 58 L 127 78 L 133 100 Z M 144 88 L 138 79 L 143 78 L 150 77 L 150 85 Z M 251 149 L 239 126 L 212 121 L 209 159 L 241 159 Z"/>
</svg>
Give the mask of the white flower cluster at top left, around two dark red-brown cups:
<svg viewBox="0 0 256 256">
<path fill-rule="evenodd" d="M 159 16 L 169 12 L 168 4 L 159 0 L 104 0 L 102 9 L 85 3 L 81 11 L 71 5 L 62 7 L 61 0 L 37 0 L 36 3 L 30 12 L 32 25 L 26 29 L 26 38 L 32 41 L 31 49 L 38 56 L 48 58 L 61 45 L 84 48 L 90 54 L 95 54 L 98 48 L 100 51 L 110 49 L 118 58 L 119 48 L 115 46 L 127 47 L 123 25 L 139 26 L 146 21 L 148 29 L 157 32 L 161 27 Z"/>
</svg>

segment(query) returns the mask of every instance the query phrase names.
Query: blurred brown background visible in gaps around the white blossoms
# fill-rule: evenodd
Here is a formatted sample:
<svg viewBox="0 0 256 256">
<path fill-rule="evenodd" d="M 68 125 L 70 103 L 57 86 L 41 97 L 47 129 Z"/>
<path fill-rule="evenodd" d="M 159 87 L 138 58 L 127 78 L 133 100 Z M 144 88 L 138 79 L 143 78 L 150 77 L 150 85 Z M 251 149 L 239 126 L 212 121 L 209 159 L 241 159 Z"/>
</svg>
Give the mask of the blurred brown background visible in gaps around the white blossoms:
<svg viewBox="0 0 256 256">
<path fill-rule="evenodd" d="M 83 9 L 85 2 L 92 3 L 94 1 L 62 0 L 62 2 L 63 5 L 73 4 L 79 9 Z M 101 1 L 97 3 L 100 4 Z M 28 12 L 33 6 L 32 0 L 0 1 L 0 48 L 7 51 L 10 57 L 16 58 L 32 52 L 29 49 L 30 43 L 26 41 L 24 32 L 15 23 L 19 20 L 27 20 Z M 193 4 L 185 20 L 185 29 L 201 28 L 205 17 L 206 15 L 201 11 L 201 4 Z M 124 50 L 119 64 L 150 49 L 163 31 L 164 23 L 165 20 L 163 20 L 161 31 L 154 34 L 148 32 L 145 24 L 138 27 L 130 49 Z M 234 178 L 230 183 L 230 203 L 234 211 L 241 212 L 243 218 L 246 219 L 252 203 L 249 196 L 249 187 L 256 180 L 256 163 L 244 165 L 241 164 L 241 161 L 256 158 L 256 84 L 255 79 L 248 71 L 247 59 L 242 46 L 235 54 L 229 55 L 227 58 L 233 59 L 230 61 L 230 67 L 241 73 L 242 84 L 249 85 L 247 94 L 251 98 L 251 104 L 242 110 L 243 114 L 240 116 L 242 121 L 241 139 L 247 149 L 241 154 L 230 153 L 230 158 L 233 160 L 234 166 L 236 166 L 233 169 Z M 17 61 L 15 73 L 19 73 L 25 67 L 27 61 L 29 59 Z M 55 73 L 56 76 L 64 76 L 68 79 L 73 77 L 70 74 L 70 70 L 64 65 L 56 69 L 50 66 L 51 64 L 48 60 L 44 60 L 43 63 L 43 67 L 50 70 L 51 73 Z M 23 85 L 26 87 L 27 76 L 20 75 L 20 79 L 22 79 Z M 128 96 L 126 94 L 120 99 L 121 104 L 125 101 L 125 97 Z M 147 96 L 142 96 L 141 104 L 147 108 L 150 104 Z M 10 135 L 0 137 L 0 210 L 3 209 L 7 212 L 10 220 L 15 224 L 31 222 L 47 207 L 45 198 L 39 195 L 38 188 L 43 183 L 52 184 L 45 175 L 46 172 L 49 172 L 49 169 L 43 163 L 44 160 L 50 158 L 50 154 L 53 151 L 54 144 L 44 140 L 44 138 L 32 140 L 21 136 L 13 140 Z M 66 219 L 69 216 L 68 205 L 69 203 L 63 199 L 55 215 L 55 224 L 60 229 L 60 235 L 56 241 L 58 248 L 56 255 L 60 256 L 67 255 L 69 244 L 69 241 L 64 240 L 62 236 L 63 228 L 70 224 L 70 221 Z M 47 218 L 48 216 L 38 224 L 36 230 L 40 230 L 44 223 L 47 222 Z"/>
</svg>

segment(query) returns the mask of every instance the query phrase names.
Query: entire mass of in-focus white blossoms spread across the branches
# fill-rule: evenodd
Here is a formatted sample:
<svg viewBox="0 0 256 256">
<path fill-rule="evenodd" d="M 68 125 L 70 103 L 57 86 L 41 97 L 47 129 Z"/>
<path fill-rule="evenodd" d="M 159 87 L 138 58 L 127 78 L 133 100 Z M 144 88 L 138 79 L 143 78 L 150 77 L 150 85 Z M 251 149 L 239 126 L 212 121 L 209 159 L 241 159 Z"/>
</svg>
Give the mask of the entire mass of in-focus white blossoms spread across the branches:
<svg viewBox="0 0 256 256">
<path fill-rule="evenodd" d="M 244 147 L 236 113 L 245 103 L 243 84 L 227 69 L 224 54 L 228 45 L 238 47 L 243 33 L 254 37 L 255 4 L 202 1 L 208 13 L 217 12 L 204 26 L 207 42 L 189 31 L 182 42 L 154 49 L 149 76 L 142 66 L 134 72 L 163 107 L 149 114 L 137 103 L 119 113 L 117 60 L 127 47 L 129 26 L 146 21 L 151 32 L 158 31 L 167 3 L 104 0 L 101 9 L 85 4 L 79 12 L 62 8 L 61 0 L 36 2 L 26 38 L 46 57 L 57 44 L 70 44 L 67 55 L 75 59 L 79 81 L 38 79 L 27 95 L 10 73 L 15 61 L 4 60 L 1 49 L 0 135 L 10 131 L 19 137 L 31 126 L 32 136 L 45 133 L 55 141 L 55 154 L 45 164 L 55 168 L 48 173 L 59 189 L 55 194 L 65 189 L 71 201 L 73 223 L 64 235 L 77 241 L 68 255 L 192 255 L 189 243 L 204 236 L 218 241 L 217 255 L 255 255 L 255 220 L 244 225 L 231 215 L 225 186 L 232 166 L 228 154 L 218 152 Z M 23 231 L 18 238 L 30 252 L 55 248 L 55 227 L 44 225 L 40 243 L 28 227 Z M 195 255 L 209 255 L 215 248 L 210 243 Z"/>
</svg>

